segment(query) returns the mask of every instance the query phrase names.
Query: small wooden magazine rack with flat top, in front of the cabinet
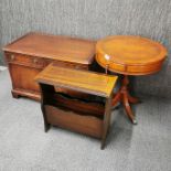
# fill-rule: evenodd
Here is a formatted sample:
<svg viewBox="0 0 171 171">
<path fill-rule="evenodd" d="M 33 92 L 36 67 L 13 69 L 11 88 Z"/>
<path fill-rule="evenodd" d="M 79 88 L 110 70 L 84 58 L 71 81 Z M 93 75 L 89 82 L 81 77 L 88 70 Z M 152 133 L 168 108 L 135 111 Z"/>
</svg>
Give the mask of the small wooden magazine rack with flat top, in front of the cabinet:
<svg viewBox="0 0 171 171">
<path fill-rule="evenodd" d="M 117 77 L 51 64 L 35 79 L 42 93 L 45 131 L 52 125 L 100 138 L 103 149 L 109 128 L 111 95 Z M 54 87 L 98 96 L 103 100 L 77 99 L 56 92 Z"/>
</svg>

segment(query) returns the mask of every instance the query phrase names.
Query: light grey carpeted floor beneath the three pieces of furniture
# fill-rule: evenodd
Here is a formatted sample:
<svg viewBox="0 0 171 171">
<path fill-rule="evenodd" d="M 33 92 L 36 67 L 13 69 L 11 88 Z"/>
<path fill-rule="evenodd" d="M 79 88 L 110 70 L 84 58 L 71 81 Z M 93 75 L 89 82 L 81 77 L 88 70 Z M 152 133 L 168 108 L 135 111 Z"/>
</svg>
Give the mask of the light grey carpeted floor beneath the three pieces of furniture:
<svg viewBox="0 0 171 171">
<path fill-rule="evenodd" d="M 43 131 L 40 104 L 13 99 L 0 72 L 0 171 L 171 171 L 171 99 L 143 97 L 138 125 L 115 110 L 105 150 L 97 139 Z"/>
</svg>

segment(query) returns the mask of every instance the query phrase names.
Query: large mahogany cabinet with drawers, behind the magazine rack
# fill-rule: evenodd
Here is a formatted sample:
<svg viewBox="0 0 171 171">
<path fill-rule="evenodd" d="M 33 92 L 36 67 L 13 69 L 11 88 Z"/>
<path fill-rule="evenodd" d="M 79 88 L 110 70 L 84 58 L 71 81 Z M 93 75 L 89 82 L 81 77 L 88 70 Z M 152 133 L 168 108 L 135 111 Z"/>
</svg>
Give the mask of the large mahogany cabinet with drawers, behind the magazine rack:
<svg viewBox="0 0 171 171">
<path fill-rule="evenodd" d="M 12 95 L 40 99 L 33 78 L 50 63 L 92 70 L 95 41 L 62 35 L 29 33 L 3 47 L 12 82 Z"/>
</svg>

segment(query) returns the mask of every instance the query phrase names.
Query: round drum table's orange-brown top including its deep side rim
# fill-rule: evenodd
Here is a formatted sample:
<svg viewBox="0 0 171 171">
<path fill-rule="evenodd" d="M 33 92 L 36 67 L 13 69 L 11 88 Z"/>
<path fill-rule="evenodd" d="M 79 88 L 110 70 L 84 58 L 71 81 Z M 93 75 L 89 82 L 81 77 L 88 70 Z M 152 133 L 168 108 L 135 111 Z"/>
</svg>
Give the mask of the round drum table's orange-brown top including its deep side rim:
<svg viewBox="0 0 171 171">
<path fill-rule="evenodd" d="M 160 71 L 165 47 L 154 41 L 133 35 L 114 35 L 96 44 L 96 60 L 103 67 L 127 75 L 146 75 Z"/>
</svg>

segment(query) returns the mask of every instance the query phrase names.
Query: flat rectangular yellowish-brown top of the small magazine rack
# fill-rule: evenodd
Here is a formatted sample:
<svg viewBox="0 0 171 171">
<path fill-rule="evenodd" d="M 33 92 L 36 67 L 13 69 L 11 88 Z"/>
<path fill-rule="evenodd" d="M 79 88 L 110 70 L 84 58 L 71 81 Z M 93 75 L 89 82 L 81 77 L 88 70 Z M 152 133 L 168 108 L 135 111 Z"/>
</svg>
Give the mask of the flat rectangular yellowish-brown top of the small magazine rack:
<svg viewBox="0 0 171 171">
<path fill-rule="evenodd" d="M 49 65 L 35 81 L 103 97 L 109 97 L 117 76 Z"/>
</svg>

